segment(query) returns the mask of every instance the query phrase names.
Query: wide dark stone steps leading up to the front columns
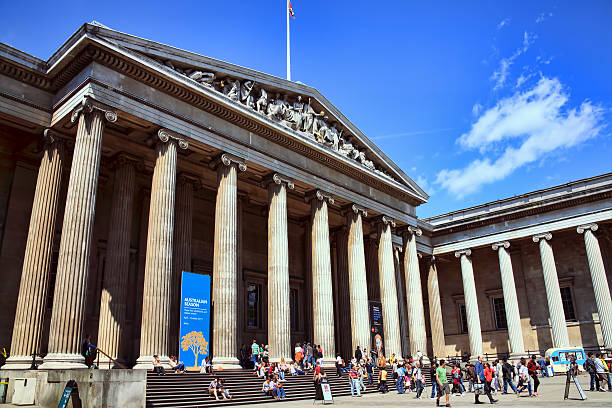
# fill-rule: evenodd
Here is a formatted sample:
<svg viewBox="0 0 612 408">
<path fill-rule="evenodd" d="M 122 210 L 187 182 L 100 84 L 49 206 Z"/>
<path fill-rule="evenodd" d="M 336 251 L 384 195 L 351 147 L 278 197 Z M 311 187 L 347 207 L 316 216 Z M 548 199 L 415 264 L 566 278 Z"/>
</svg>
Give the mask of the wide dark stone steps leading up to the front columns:
<svg viewBox="0 0 612 408">
<path fill-rule="evenodd" d="M 387 371 L 389 372 L 389 389 L 394 392 L 395 386 L 392 384 L 390 368 Z M 425 367 L 423 372 L 426 384 L 429 387 L 431 385 L 429 367 Z M 362 393 L 368 394 L 377 391 L 377 375 L 378 369 L 375 369 L 374 385 L 366 384 L 366 391 Z M 221 405 L 261 404 L 274 401 L 272 397 L 261 392 L 263 380 L 254 375 L 251 370 L 217 371 L 214 377 L 224 379 L 225 387 L 229 389 L 233 398 L 231 401 L 216 401 L 213 396 L 208 394 L 208 385 L 212 377 L 210 374 L 200 373 L 168 373 L 165 376 L 149 373 L 147 375 L 147 407 L 216 407 Z M 327 379 L 334 397 L 351 395 L 348 374 L 344 373 L 342 377 L 338 377 L 336 370 L 330 369 L 327 370 Z M 286 376 L 283 386 L 287 393 L 287 398 L 283 401 L 314 399 L 315 397 L 312 374 Z"/>
</svg>

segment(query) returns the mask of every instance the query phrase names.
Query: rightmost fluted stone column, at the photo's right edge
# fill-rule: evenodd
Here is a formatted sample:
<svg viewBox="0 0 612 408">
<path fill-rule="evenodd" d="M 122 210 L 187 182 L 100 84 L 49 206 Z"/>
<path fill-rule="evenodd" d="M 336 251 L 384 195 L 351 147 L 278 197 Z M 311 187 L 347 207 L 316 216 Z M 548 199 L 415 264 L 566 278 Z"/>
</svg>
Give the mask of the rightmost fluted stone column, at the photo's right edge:
<svg viewBox="0 0 612 408">
<path fill-rule="evenodd" d="M 578 227 L 577 231 L 579 234 L 584 234 L 584 244 L 586 245 L 604 345 L 607 349 L 612 349 L 612 299 L 610 299 L 610 286 L 608 286 L 599 242 L 593 234 L 597 231 L 597 228 L 597 224 L 587 224 Z"/>
</svg>

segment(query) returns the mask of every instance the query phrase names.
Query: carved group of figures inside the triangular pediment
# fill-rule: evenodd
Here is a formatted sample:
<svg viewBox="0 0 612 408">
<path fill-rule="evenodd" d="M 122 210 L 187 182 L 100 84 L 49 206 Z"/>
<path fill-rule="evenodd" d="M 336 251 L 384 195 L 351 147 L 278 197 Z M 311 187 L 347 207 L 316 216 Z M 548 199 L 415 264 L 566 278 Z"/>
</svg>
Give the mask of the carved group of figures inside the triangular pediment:
<svg viewBox="0 0 612 408">
<path fill-rule="evenodd" d="M 360 163 L 377 174 L 393 179 L 368 158 L 366 150 L 360 149 L 358 144 L 354 142 L 354 136 L 343 134 L 345 130 L 338 129 L 338 123 L 330 121 L 324 111 L 315 111 L 310 98 L 304 100 L 301 95 L 297 95 L 290 100 L 289 95 L 280 92 L 271 93 L 252 80 L 242 80 L 229 76 L 218 79 L 214 72 L 201 71 L 196 68 L 182 69 L 176 67 L 170 60 L 155 59 L 155 61 L 234 102 L 252 109 L 273 122 L 292 129 L 340 155 Z"/>
</svg>

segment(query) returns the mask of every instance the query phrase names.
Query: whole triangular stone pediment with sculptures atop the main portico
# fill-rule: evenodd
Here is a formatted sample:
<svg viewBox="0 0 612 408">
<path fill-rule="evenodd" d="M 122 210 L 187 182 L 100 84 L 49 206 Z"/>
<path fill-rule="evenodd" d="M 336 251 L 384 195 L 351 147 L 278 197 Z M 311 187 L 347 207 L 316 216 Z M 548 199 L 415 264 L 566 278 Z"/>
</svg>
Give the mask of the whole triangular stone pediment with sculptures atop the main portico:
<svg viewBox="0 0 612 408">
<path fill-rule="evenodd" d="M 166 75 L 180 76 L 203 92 L 239 104 L 262 120 L 316 142 L 362 171 L 409 190 L 419 201 L 427 194 L 355 125 L 310 86 L 134 37 L 102 25 L 87 25 L 90 34 L 128 50 Z"/>
</svg>

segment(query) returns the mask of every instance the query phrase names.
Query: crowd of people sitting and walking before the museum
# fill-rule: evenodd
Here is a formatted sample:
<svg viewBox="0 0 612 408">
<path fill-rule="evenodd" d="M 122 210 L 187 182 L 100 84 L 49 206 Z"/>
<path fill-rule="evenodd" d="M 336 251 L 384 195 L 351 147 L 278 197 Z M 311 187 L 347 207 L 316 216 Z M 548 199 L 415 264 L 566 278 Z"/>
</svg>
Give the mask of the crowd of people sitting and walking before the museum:
<svg viewBox="0 0 612 408">
<path fill-rule="evenodd" d="M 326 383 L 327 374 L 323 368 L 324 350 L 320 345 L 309 342 L 297 343 L 294 348 L 292 360 L 281 358 L 279 362 L 271 362 L 269 358 L 270 347 L 260 345 L 254 339 L 251 346 L 242 345 L 240 349 L 240 365 L 244 369 L 252 370 L 253 374 L 262 379 L 261 392 L 275 400 L 285 399 L 287 392 L 284 382 L 287 376 L 312 375 L 316 399 L 323 399 L 321 384 Z M 423 372 L 424 356 L 417 352 L 416 356 L 407 356 L 402 359 L 395 354 L 385 356 L 372 348 L 369 353 L 357 347 L 348 364 L 340 354 L 336 355 L 336 376 L 346 376 L 351 390 L 351 396 L 360 397 L 367 386 L 374 386 L 382 394 L 395 388 L 399 394 L 414 393 L 414 398 L 421 399 L 426 393 L 425 373 Z M 177 361 L 175 356 L 170 359 L 172 370 L 177 373 L 185 372 L 185 365 Z M 430 398 L 436 400 L 436 406 L 450 407 L 450 398 L 463 397 L 466 393 L 474 394 L 474 403 L 483 404 L 479 398 L 486 396 L 488 402 L 498 402 L 494 398 L 497 394 L 515 394 L 517 397 L 525 394 L 529 397 L 538 397 L 539 377 L 549 376 L 550 362 L 542 356 L 532 355 L 531 358 L 520 358 L 512 362 L 506 358 L 484 361 L 478 356 L 470 362 L 469 355 L 462 359 L 437 360 L 430 362 L 431 393 Z M 378 369 L 375 376 L 375 368 Z M 612 391 L 610 381 L 610 367 L 604 355 L 589 353 L 582 369 L 590 375 L 591 391 Z M 158 356 L 154 356 L 153 370 L 164 375 L 165 370 Z M 202 360 L 200 372 L 214 374 L 211 357 Z M 209 387 L 209 394 L 215 399 L 231 399 L 229 389 L 225 387 L 224 380 L 214 378 Z"/>
</svg>

